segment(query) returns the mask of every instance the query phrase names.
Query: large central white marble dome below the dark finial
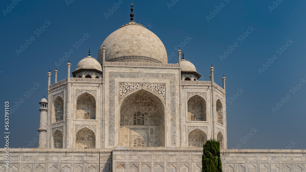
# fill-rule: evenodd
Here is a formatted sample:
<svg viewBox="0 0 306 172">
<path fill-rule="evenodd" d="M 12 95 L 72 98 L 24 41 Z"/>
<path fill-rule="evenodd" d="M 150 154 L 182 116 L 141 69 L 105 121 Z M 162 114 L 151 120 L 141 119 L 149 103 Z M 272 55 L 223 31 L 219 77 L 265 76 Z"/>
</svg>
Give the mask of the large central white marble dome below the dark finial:
<svg viewBox="0 0 306 172">
<path fill-rule="evenodd" d="M 134 21 L 122 25 L 104 40 L 98 53 L 100 64 L 104 45 L 105 61 L 168 63 L 162 41 L 153 32 Z"/>
</svg>

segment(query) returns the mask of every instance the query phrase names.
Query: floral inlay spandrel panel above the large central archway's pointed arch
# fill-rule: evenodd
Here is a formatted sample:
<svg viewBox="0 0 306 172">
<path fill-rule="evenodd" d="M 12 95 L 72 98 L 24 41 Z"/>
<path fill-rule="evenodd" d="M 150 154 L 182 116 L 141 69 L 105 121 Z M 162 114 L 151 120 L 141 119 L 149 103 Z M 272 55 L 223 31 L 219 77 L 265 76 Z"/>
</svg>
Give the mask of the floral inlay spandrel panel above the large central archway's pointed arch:
<svg viewBox="0 0 306 172">
<path fill-rule="evenodd" d="M 119 82 L 119 102 L 129 92 L 143 87 L 159 95 L 165 101 L 166 84 L 164 83 L 126 83 Z"/>
</svg>

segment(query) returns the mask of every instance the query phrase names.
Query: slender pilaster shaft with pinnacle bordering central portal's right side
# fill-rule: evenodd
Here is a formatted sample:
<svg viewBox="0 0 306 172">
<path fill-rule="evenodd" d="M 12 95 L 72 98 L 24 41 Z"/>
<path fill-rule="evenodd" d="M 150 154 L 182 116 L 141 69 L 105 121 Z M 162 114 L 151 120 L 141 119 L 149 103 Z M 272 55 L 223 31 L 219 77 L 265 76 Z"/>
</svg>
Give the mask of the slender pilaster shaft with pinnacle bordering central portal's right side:
<svg viewBox="0 0 306 172">
<path fill-rule="evenodd" d="M 182 118 L 182 89 L 183 86 L 181 85 L 181 70 L 182 70 L 182 66 L 181 66 L 181 50 L 180 47 L 178 47 L 178 65 L 179 65 L 179 72 L 178 72 L 178 79 L 179 79 L 179 86 L 180 86 L 180 91 L 179 91 L 179 110 L 180 110 L 180 147 L 183 147 L 183 118 Z M 184 53 L 183 53 L 184 54 Z"/>
</svg>

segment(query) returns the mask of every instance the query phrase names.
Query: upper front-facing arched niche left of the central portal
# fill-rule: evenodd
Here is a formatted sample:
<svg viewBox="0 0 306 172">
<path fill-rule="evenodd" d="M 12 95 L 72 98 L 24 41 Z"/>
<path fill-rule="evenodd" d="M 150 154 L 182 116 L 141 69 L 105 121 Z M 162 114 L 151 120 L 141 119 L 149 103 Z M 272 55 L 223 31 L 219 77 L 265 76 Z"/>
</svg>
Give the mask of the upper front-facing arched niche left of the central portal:
<svg viewBox="0 0 306 172">
<path fill-rule="evenodd" d="M 96 101 L 90 93 L 82 93 L 76 99 L 76 119 L 96 119 Z"/>
</svg>

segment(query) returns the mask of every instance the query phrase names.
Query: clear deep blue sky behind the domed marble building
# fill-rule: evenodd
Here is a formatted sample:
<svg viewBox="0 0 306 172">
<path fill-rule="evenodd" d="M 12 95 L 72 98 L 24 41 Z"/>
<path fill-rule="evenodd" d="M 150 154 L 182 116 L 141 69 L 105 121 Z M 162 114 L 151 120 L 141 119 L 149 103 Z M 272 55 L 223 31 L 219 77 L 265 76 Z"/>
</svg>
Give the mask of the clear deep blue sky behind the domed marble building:
<svg viewBox="0 0 306 172">
<path fill-rule="evenodd" d="M 104 39 L 130 21 L 131 1 L 75 0 L 67 5 L 68 1 L 21 0 L 17 5 L 11 5 L 11 0 L 0 2 L 0 102 L 4 108 L 4 101 L 10 101 L 12 106 L 24 99 L 10 115 L 11 147 L 27 146 L 37 137 L 38 103 L 43 95 L 47 96 L 49 68 L 54 83 L 55 63 L 64 53 L 73 49 L 69 57 L 73 71 L 87 56 L 88 48 L 96 58 Z M 240 144 L 241 148 L 278 149 L 289 147 L 290 141 L 295 142 L 290 145 L 294 149 L 306 148 L 306 85 L 300 82 L 306 77 L 306 2 L 279 2 L 132 1 L 134 21 L 159 36 L 166 47 L 168 63 L 177 63 L 177 56 L 170 56 L 172 52 L 177 54 L 176 46 L 180 44 L 185 59 L 195 64 L 203 80 L 209 80 L 211 63 L 215 67 L 215 82 L 220 86 L 225 73 L 228 148 Z M 73 46 L 84 33 L 90 35 L 87 40 Z M 25 43 L 30 41 L 25 40 L 31 37 L 27 46 Z M 185 44 L 186 37 L 189 42 Z M 21 44 L 27 47 L 23 49 Z M 228 50 L 229 46 L 235 49 Z M 224 51 L 230 52 L 226 58 Z M 270 65 L 268 58 L 274 60 Z M 67 76 L 67 62 L 64 60 L 57 68 L 58 81 Z M 263 63 L 268 67 L 263 67 Z M 37 88 L 35 83 L 41 85 Z M 37 89 L 31 90 L 33 86 Z M 236 96 L 237 89 L 244 91 Z M 33 90 L 31 95 L 27 93 Z M 290 99 L 276 107 L 287 95 Z M 278 108 L 275 114 L 272 108 Z M 4 131 L 3 117 L 0 123 Z M 250 135 L 251 128 L 258 131 Z M 33 147 L 37 147 L 37 142 Z"/>
</svg>

